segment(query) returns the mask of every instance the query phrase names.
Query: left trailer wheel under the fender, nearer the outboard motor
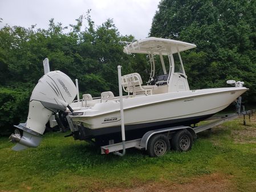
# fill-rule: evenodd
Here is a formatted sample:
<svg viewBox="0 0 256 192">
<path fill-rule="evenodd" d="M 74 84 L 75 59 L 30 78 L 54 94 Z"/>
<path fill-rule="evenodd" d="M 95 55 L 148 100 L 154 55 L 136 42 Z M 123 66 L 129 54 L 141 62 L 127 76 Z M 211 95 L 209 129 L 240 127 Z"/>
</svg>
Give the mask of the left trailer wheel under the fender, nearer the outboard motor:
<svg viewBox="0 0 256 192">
<path fill-rule="evenodd" d="M 170 150 L 170 142 L 164 134 L 156 134 L 150 138 L 147 149 L 150 157 L 163 156 L 168 150 Z"/>
</svg>

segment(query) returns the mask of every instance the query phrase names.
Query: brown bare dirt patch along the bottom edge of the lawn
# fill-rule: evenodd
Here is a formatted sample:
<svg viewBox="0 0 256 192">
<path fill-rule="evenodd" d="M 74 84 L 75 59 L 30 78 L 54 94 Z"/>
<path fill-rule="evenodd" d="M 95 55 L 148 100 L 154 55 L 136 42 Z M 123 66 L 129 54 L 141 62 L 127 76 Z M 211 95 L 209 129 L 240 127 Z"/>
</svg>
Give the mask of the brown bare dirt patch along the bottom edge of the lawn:
<svg viewBox="0 0 256 192">
<path fill-rule="evenodd" d="M 203 175 L 201 177 L 192 178 L 184 183 L 173 183 L 168 181 L 145 183 L 142 186 L 137 186 L 132 189 L 108 189 L 104 192 L 180 192 L 180 191 L 235 191 L 234 186 L 232 186 L 229 180 L 230 176 L 213 173 L 209 175 Z"/>
</svg>

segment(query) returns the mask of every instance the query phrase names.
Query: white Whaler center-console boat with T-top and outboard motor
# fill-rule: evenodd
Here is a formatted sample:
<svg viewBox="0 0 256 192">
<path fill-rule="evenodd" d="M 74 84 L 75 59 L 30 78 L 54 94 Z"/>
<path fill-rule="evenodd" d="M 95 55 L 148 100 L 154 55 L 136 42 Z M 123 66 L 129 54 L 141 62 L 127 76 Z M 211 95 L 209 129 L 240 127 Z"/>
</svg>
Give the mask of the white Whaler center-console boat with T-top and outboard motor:
<svg viewBox="0 0 256 192">
<path fill-rule="evenodd" d="M 196 124 L 222 111 L 247 91 L 241 81 L 229 81 L 235 87 L 190 90 L 180 52 L 195 47 L 196 45 L 192 43 L 155 37 L 137 40 L 124 47 L 126 54 L 146 54 L 151 68 L 147 83 L 143 83 L 141 75 L 137 72 L 125 74 L 120 78 L 123 92 L 126 93 L 122 98 L 127 139 L 139 138 L 149 130 Z M 156 61 L 159 62 L 158 67 Z M 67 79 L 68 77 L 63 76 L 63 78 Z M 67 94 L 67 90 L 70 90 L 68 91 L 70 98 L 75 97 L 76 88 L 71 85 L 70 80 L 64 81 L 58 77 L 53 81 L 55 87 L 62 88 L 66 86 L 63 82 L 68 81 L 71 87 L 64 88 L 63 95 Z M 50 89 L 53 89 L 52 92 L 55 92 L 56 95 L 58 95 L 56 92 L 62 92 L 61 88 L 55 90 L 51 86 Z M 39 93 L 39 91 L 36 93 Z M 34 93 L 34 95 L 36 94 Z M 60 94 L 58 98 L 60 99 L 57 101 L 52 99 L 52 101 L 43 101 L 41 104 L 44 108 L 53 112 L 64 111 L 63 106 L 68 107 L 66 121 L 75 140 L 95 140 L 100 145 L 108 144 L 109 141 L 120 141 L 119 96 L 115 96 L 111 91 L 102 92 L 100 97 L 95 98 L 90 93 L 85 93 L 83 99 L 78 99 L 72 103 L 62 101 Z M 43 99 L 40 97 L 38 100 L 42 101 Z M 54 104 L 51 105 L 51 103 Z M 62 107 L 58 107 L 59 105 Z M 30 110 L 35 109 L 30 107 Z M 40 126 L 39 129 L 35 130 L 32 129 L 32 125 L 30 127 L 27 127 L 26 124 L 17 126 L 18 129 L 23 131 L 27 132 L 27 130 L 32 129 L 32 133 L 39 134 L 42 134 L 44 130 L 42 127 Z M 32 133 L 30 132 L 30 134 Z M 38 137 L 38 134 L 36 137 Z M 27 145 L 27 142 L 21 143 L 22 137 L 19 133 L 13 134 L 11 138 L 20 144 L 15 148 L 16 150 L 39 145 L 37 140 L 35 141 L 36 144 L 31 145 Z"/>
</svg>

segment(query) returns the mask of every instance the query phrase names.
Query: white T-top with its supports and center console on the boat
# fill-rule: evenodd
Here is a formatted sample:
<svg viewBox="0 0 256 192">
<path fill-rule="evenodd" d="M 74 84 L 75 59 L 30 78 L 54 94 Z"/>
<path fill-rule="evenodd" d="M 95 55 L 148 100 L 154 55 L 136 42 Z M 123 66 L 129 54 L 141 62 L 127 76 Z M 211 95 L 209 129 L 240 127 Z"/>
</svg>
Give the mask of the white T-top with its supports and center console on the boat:
<svg viewBox="0 0 256 192">
<path fill-rule="evenodd" d="M 148 54 L 149 62 L 151 64 L 151 73 L 147 84 L 151 85 L 151 89 L 155 94 L 189 91 L 187 76 L 183 67 L 180 52 L 194 47 L 196 47 L 196 45 L 191 43 L 151 37 L 128 44 L 124 47 L 124 52 L 126 54 Z M 178 61 L 176 63 L 174 63 L 174 54 L 178 55 Z M 159 55 L 162 67 L 162 74 L 158 76 L 156 76 L 154 55 Z M 168 57 L 169 71 L 166 70 L 163 56 Z M 138 73 L 133 74 L 133 76 L 134 75 L 139 76 L 138 79 L 141 79 Z M 133 79 L 136 78 L 133 77 Z M 157 87 L 154 87 L 154 85 Z M 146 89 L 147 87 L 144 86 L 144 88 Z"/>
</svg>

